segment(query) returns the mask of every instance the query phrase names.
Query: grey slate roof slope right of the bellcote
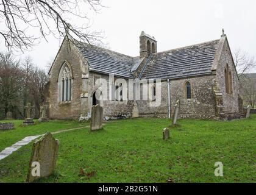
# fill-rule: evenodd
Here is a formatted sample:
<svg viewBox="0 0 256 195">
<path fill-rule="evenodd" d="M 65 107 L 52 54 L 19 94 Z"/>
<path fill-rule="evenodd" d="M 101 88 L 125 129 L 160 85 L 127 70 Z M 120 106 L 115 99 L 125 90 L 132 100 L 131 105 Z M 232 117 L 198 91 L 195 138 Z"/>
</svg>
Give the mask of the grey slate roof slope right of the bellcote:
<svg viewBox="0 0 256 195">
<path fill-rule="evenodd" d="M 175 79 L 212 73 L 219 40 L 152 54 L 141 75 L 146 79 Z"/>
</svg>

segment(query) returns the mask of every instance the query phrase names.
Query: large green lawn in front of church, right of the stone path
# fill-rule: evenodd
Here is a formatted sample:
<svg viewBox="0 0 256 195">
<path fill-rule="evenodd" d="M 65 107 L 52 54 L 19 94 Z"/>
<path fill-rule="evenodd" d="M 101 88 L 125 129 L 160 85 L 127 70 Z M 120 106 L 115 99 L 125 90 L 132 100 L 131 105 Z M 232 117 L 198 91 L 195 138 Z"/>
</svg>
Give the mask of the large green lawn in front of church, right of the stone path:
<svg viewBox="0 0 256 195">
<path fill-rule="evenodd" d="M 97 132 L 85 128 L 54 135 L 60 141 L 55 174 L 38 182 L 256 182 L 256 115 L 178 120 L 163 141 L 170 123 L 126 119 L 107 122 Z M 31 149 L 32 143 L 0 161 L 0 182 L 26 180 Z M 224 177 L 215 177 L 217 161 Z"/>
</svg>

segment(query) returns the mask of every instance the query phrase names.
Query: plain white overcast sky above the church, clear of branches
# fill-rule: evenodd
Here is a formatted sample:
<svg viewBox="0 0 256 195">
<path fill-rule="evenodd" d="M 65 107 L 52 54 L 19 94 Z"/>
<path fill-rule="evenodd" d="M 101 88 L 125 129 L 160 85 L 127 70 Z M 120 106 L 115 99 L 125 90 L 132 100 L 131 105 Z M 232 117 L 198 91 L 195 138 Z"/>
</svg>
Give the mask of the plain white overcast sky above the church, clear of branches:
<svg viewBox="0 0 256 195">
<path fill-rule="evenodd" d="M 157 39 L 160 52 L 218 39 L 224 28 L 232 51 L 241 48 L 256 55 L 256 1 L 102 0 L 102 4 L 108 8 L 90 15 L 91 29 L 104 31 L 103 42 L 113 51 L 138 56 L 142 30 Z M 30 55 L 44 68 L 55 57 L 59 46 L 59 40 L 48 37 L 48 43 L 41 40 L 32 51 L 20 57 Z"/>
</svg>

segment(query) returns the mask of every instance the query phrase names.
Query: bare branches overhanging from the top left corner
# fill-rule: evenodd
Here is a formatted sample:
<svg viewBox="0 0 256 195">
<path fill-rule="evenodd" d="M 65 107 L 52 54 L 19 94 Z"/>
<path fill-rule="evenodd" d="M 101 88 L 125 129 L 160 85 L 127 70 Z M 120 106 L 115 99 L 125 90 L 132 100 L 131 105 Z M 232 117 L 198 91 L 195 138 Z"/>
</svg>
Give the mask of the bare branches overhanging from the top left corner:
<svg viewBox="0 0 256 195">
<path fill-rule="evenodd" d="M 101 0 L 0 0 L 0 37 L 4 38 L 8 49 L 24 51 L 30 49 L 37 40 L 52 34 L 57 38 L 70 33 L 80 41 L 90 43 L 99 40 L 98 32 L 90 32 L 88 14 L 85 8 L 98 12 Z M 71 24 L 82 18 L 87 24 L 76 27 Z M 36 28 L 38 36 L 29 34 Z M 69 39 L 68 39 L 69 41 Z M 72 40 L 71 40 L 72 41 Z"/>
</svg>

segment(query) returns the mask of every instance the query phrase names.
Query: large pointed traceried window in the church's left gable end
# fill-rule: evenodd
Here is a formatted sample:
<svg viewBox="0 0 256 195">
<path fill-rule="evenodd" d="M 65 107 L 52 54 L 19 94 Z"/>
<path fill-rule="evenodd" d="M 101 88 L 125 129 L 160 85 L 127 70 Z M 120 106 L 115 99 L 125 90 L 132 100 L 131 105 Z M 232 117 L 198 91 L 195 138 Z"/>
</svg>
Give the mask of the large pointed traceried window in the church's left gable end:
<svg viewBox="0 0 256 195">
<path fill-rule="evenodd" d="M 65 62 L 59 74 L 59 101 L 69 102 L 72 96 L 72 71 Z"/>
</svg>

